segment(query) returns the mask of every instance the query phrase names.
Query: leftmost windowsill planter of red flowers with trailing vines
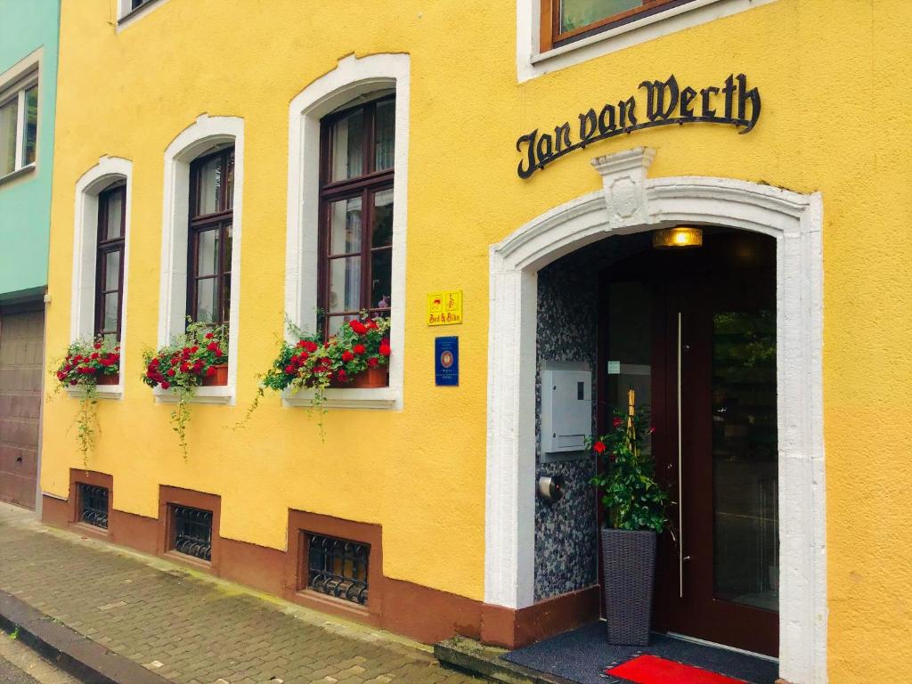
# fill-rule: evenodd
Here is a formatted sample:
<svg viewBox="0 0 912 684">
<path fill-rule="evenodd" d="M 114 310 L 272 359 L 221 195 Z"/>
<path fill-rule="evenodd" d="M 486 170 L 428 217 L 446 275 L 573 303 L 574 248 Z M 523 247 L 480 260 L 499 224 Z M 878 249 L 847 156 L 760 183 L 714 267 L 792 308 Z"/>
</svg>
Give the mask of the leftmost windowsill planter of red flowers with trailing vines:
<svg viewBox="0 0 912 684">
<path fill-rule="evenodd" d="M 95 445 L 98 425 L 98 385 L 117 385 L 120 378 L 120 347 L 99 337 L 93 342 L 77 340 L 67 347 L 66 357 L 54 371 L 57 387 L 78 390 L 79 410 L 74 424 L 82 463 L 88 467 L 88 452 Z"/>
</svg>

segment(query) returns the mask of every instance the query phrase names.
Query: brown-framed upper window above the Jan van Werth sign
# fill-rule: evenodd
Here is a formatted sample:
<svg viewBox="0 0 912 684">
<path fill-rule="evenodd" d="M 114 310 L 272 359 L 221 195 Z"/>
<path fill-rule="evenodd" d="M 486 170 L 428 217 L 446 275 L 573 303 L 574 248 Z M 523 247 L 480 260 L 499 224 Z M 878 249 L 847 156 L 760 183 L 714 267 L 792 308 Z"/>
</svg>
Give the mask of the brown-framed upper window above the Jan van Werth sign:
<svg viewBox="0 0 912 684">
<path fill-rule="evenodd" d="M 541 0 L 541 52 L 693 0 Z"/>
</svg>

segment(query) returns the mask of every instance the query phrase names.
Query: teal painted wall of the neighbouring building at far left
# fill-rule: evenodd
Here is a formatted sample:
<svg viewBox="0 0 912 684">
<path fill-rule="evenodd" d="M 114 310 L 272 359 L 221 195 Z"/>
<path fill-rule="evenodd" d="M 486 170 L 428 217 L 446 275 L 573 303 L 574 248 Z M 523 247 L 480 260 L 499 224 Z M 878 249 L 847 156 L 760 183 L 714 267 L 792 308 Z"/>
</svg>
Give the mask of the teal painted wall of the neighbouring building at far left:
<svg viewBox="0 0 912 684">
<path fill-rule="evenodd" d="M 59 0 L 0 0 L 0 74 L 42 49 L 36 169 L 0 181 L 0 300 L 47 285 L 59 20 Z"/>
</svg>

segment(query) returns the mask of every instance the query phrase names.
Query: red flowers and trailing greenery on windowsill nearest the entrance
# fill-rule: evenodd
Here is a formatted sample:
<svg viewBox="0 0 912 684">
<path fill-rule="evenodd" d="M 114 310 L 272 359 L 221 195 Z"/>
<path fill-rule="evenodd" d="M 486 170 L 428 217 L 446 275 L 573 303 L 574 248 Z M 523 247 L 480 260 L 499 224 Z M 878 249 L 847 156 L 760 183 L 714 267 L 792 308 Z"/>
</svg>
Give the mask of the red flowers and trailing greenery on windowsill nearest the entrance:
<svg viewBox="0 0 912 684">
<path fill-rule="evenodd" d="M 286 325 L 294 341 L 280 343 L 278 356 L 260 377 L 254 403 L 239 425 L 250 418 L 266 389 L 287 389 L 292 394 L 312 389 L 310 408 L 317 409 L 321 417 L 318 424 L 322 433 L 326 389 L 379 388 L 389 384 L 389 318 L 362 312 L 357 319 L 343 323 L 326 341 L 319 333 L 307 333 L 290 322 Z"/>
</svg>

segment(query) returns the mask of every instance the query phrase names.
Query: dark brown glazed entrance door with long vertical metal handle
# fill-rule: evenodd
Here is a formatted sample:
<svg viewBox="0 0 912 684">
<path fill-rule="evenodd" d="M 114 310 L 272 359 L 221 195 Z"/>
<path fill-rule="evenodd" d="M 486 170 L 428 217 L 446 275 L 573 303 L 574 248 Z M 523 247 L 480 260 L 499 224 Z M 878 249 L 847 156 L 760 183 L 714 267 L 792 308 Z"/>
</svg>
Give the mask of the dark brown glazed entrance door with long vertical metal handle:
<svg viewBox="0 0 912 684">
<path fill-rule="evenodd" d="M 627 302 L 604 312 L 616 326 L 606 338 L 607 399 L 630 386 L 650 405 L 650 447 L 673 502 L 654 627 L 776 656 L 773 263 L 772 241 L 709 235 L 700 250 L 640 255 L 603 293 Z M 648 322 L 637 322 L 644 312 Z"/>
</svg>

